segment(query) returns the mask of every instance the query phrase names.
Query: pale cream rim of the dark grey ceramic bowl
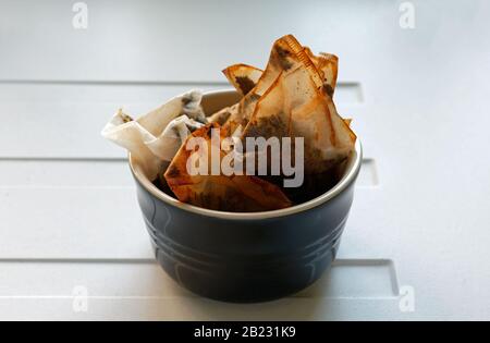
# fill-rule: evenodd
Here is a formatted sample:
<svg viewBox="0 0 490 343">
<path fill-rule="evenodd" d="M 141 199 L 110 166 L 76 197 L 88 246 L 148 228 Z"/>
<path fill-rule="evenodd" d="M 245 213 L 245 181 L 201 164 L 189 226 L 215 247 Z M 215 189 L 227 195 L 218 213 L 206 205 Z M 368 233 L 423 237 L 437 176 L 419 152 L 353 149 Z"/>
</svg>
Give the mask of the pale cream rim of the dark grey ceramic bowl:
<svg viewBox="0 0 490 343">
<path fill-rule="evenodd" d="M 207 91 L 204 94 L 204 96 L 221 94 L 221 93 L 230 93 L 230 89 Z M 219 219 L 257 220 L 257 219 L 278 218 L 278 217 L 284 217 L 284 216 L 304 212 L 304 211 L 307 211 L 309 209 L 318 207 L 319 205 L 333 199 L 335 196 L 338 196 L 344 189 L 346 189 L 357 179 L 357 175 L 360 170 L 360 164 L 363 161 L 363 146 L 360 144 L 359 137 L 357 137 L 356 143 L 354 145 L 353 155 L 354 156 L 350 157 L 350 161 L 347 163 L 347 170 L 344 172 L 344 175 L 342 176 L 342 179 L 332 188 L 330 188 L 322 195 L 320 195 L 311 200 L 308 200 L 308 201 L 305 201 L 305 203 L 302 203 L 298 205 L 294 205 L 292 207 L 277 209 L 277 210 L 270 210 L 270 211 L 260 211 L 260 212 L 220 211 L 220 210 L 212 210 L 212 209 L 207 209 L 207 208 L 182 203 L 182 201 L 175 199 L 174 197 L 168 195 L 163 191 L 160 191 L 143 173 L 142 168 L 137 167 L 136 163 L 134 163 L 131 152 L 128 154 L 127 159 L 128 159 L 131 172 L 133 173 L 136 182 L 138 182 L 154 197 L 158 198 L 159 200 L 161 200 L 170 206 L 176 207 L 184 211 L 188 211 L 188 212 L 193 212 L 193 213 L 197 213 L 197 215 L 201 215 L 201 216 L 206 216 L 206 217 L 219 218 Z M 354 159 L 354 161 L 352 161 L 352 159 Z"/>
</svg>

